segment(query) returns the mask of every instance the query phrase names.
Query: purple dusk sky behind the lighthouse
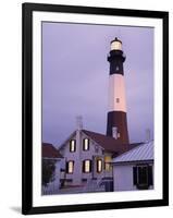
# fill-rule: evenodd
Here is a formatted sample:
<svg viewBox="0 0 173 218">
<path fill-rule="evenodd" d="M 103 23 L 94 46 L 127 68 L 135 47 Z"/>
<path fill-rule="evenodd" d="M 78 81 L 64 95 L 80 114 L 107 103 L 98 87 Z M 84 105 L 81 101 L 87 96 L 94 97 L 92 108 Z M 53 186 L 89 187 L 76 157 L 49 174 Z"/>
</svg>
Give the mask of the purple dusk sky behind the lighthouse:
<svg viewBox="0 0 173 218">
<path fill-rule="evenodd" d="M 110 41 L 123 43 L 129 142 L 153 138 L 151 27 L 42 23 L 42 142 L 59 147 L 83 117 L 86 130 L 106 134 Z"/>
</svg>

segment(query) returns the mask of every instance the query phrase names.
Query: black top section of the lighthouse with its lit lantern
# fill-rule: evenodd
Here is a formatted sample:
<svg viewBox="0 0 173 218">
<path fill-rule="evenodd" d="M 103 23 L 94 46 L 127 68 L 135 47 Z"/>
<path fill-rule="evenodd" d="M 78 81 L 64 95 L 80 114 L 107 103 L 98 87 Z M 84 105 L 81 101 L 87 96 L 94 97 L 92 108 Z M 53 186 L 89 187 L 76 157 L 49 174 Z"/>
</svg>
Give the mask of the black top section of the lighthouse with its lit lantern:
<svg viewBox="0 0 173 218">
<path fill-rule="evenodd" d="M 110 75 L 124 75 L 123 62 L 125 61 L 125 56 L 122 50 L 122 41 L 116 37 L 111 41 L 111 50 L 108 56 L 108 61 L 110 62 Z"/>
</svg>

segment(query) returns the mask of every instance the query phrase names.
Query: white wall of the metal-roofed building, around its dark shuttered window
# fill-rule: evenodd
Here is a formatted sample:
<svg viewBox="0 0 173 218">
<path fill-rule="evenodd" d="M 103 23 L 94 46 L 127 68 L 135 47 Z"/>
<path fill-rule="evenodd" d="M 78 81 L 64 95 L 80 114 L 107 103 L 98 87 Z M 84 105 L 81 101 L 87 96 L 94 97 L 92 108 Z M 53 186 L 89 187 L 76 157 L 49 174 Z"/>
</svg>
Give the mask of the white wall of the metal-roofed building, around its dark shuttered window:
<svg viewBox="0 0 173 218">
<path fill-rule="evenodd" d="M 113 166 L 113 184 L 114 191 L 138 190 L 133 182 L 133 167 L 136 165 Z M 152 165 L 153 172 L 153 165 Z M 153 181 L 155 182 L 155 181 Z M 149 186 L 149 190 L 153 186 Z"/>
</svg>

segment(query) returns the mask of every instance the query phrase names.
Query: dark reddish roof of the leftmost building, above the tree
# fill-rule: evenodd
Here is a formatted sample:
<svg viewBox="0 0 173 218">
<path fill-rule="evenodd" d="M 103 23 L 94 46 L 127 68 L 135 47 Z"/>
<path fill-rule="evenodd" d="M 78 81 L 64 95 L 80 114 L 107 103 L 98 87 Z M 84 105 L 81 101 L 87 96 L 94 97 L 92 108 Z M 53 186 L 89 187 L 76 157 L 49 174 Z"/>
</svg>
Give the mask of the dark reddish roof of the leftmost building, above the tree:
<svg viewBox="0 0 173 218">
<path fill-rule="evenodd" d="M 59 150 L 50 143 L 42 143 L 42 157 L 63 158 Z"/>
</svg>

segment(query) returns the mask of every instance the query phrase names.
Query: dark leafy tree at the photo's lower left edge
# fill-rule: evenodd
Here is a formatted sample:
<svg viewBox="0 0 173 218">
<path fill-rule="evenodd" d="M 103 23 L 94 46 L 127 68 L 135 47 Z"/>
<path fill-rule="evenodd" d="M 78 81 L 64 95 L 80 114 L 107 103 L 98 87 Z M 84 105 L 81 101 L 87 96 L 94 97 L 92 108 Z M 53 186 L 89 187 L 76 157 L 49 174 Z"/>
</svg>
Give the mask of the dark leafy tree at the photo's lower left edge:
<svg viewBox="0 0 173 218">
<path fill-rule="evenodd" d="M 47 186 L 49 182 L 54 181 L 55 161 L 42 159 L 42 185 Z"/>
</svg>

